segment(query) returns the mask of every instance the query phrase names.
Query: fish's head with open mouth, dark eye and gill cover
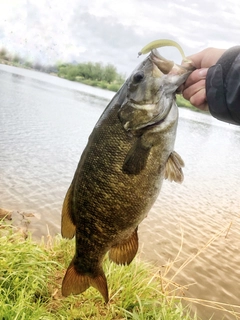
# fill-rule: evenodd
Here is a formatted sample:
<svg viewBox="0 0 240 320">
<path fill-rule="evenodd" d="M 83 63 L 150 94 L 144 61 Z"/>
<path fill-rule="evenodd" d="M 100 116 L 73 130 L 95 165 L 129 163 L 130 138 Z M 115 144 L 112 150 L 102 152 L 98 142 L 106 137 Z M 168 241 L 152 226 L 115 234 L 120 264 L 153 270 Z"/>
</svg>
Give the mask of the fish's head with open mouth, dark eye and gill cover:
<svg viewBox="0 0 240 320">
<path fill-rule="evenodd" d="M 119 119 L 126 131 L 137 134 L 159 124 L 167 117 L 177 89 L 194 67 L 175 64 L 156 49 L 133 71 L 127 80 L 126 98 L 119 109 Z"/>
</svg>

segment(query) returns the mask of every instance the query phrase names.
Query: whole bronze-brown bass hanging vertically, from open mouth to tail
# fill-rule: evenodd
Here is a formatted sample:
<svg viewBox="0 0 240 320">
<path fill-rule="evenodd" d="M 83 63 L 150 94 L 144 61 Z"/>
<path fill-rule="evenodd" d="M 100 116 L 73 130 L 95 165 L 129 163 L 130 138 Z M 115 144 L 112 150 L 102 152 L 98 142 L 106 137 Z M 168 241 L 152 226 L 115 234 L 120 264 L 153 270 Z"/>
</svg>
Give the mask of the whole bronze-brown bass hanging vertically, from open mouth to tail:
<svg viewBox="0 0 240 320">
<path fill-rule="evenodd" d="M 105 254 L 117 264 L 129 264 L 138 250 L 138 225 L 163 179 L 182 181 L 184 164 L 173 150 L 175 92 L 191 71 L 152 51 L 95 125 L 63 203 L 62 236 L 76 238 L 64 296 L 93 286 L 108 302 Z"/>
</svg>

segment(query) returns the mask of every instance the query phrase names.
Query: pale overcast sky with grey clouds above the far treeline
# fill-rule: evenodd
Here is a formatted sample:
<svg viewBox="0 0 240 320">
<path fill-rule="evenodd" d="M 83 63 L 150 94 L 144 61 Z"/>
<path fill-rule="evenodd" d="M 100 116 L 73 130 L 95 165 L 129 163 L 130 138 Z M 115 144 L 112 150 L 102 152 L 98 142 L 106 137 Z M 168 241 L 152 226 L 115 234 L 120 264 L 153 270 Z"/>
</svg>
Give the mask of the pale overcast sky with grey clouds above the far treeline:
<svg viewBox="0 0 240 320">
<path fill-rule="evenodd" d="M 30 61 L 111 63 L 130 74 L 152 40 L 186 55 L 239 44 L 239 0 L 0 0 L 0 48 Z M 159 49 L 177 63 L 175 48 Z"/>
</svg>

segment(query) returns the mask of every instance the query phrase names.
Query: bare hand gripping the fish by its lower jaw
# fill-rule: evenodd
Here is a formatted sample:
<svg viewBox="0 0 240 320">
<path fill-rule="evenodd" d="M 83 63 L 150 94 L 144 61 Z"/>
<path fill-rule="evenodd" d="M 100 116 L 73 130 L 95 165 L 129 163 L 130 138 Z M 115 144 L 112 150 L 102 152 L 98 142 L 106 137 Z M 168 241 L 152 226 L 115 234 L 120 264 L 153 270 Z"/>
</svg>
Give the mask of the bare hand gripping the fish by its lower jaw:
<svg viewBox="0 0 240 320">
<path fill-rule="evenodd" d="M 197 69 L 187 78 L 181 88 L 182 94 L 185 99 L 200 110 L 208 111 L 205 88 L 208 68 L 216 64 L 225 51 L 226 49 L 207 48 L 187 57 Z"/>
</svg>

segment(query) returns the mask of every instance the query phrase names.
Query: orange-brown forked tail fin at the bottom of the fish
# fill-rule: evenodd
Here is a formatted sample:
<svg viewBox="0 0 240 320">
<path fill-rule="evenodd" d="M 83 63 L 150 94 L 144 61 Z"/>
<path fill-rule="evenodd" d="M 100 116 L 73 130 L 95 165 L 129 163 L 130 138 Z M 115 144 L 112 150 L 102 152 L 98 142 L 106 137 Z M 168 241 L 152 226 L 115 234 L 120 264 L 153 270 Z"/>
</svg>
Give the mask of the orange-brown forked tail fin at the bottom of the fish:
<svg viewBox="0 0 240 320">
<path fill-rule="evenodd" d="M 73 259 L 74 261 L 74 259 Z M 87 290 L 90 286 L 97 289 L 107 303 L 108 287 L 107 279 L 102 269 L 97 272 L 97 276 L 91 277 L 89 274 L 78 273 L 73 261 L 70 263 L 62 283 L 62 295 L 79 294 Z"/>
</svg>

